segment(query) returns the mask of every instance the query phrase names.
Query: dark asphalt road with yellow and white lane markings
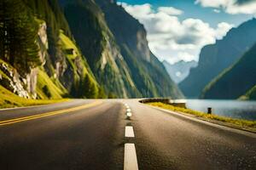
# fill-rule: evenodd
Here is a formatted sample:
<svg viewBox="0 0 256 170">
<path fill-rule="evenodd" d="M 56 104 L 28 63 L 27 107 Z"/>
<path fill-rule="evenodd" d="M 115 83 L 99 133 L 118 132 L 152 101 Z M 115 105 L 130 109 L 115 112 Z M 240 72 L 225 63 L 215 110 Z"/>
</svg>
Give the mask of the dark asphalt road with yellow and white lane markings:
<svg viewBox="0 0 256 170">
<path fill-rule="evenodd" d="M 125 137 L 125 126 L 134 137 Z M 124 158 L 125 144 L 135 145 L 133 161 L 132 153 Z M 160 111 L 137 99 L 0 111 L 1 170 L 115 170 L 132 163 L 144 170 L 256 169 L 256 134 Z"/>
</svg>

